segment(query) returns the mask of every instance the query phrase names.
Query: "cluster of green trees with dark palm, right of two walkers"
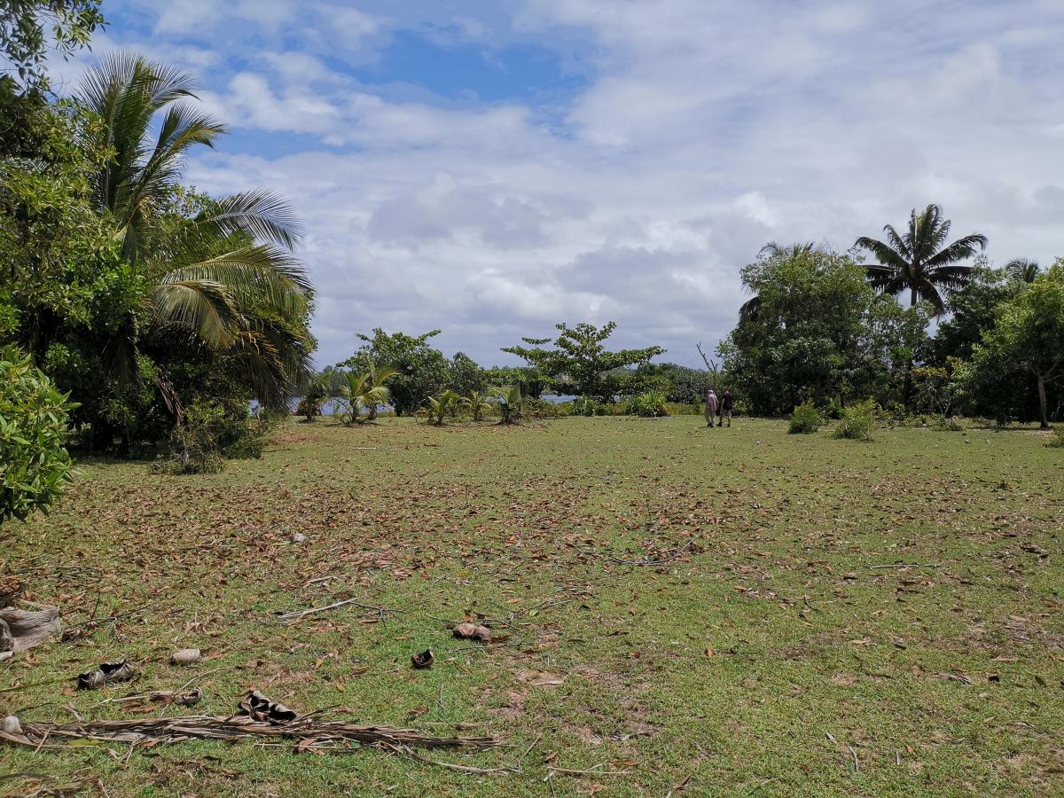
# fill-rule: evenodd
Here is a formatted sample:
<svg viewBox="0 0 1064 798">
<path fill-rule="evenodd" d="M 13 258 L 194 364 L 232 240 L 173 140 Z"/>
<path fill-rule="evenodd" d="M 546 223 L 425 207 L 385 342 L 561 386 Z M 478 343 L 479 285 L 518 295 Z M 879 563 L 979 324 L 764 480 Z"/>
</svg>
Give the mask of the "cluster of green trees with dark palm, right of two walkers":
<svg viewBox="0 0 1064 798">
<path fill-rule="evenodd" d="M 753 297 L 719 348 L 750 410 L 872 398 L 899 415 L 1060 419 L 1064 263 L 994 268 L 985 236 L 949 242 L 949 231 L 932 204 L 904 232 L 887 225 L 846 253 L 763 248 L 742 271 Z"/>
</svg>

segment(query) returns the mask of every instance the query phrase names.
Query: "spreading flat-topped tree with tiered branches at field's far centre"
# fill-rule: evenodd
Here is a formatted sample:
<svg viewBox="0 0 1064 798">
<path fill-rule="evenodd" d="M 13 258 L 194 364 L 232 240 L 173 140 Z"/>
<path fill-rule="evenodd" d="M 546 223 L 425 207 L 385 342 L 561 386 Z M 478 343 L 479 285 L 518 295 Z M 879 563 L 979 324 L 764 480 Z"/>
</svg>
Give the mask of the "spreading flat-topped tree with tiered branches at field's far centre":
<svg viewBox="0 0 1064 798">
<path fill-rule="evenodd" d="M 553 340 L 553 349 L 544 348 L 551 343 L 550 338 L 522 338 L 529 346 L 504 347 L 502 351 L 516 354 L 539 369 L 553 381 L 554 389 L 563 394 L 611 401 L 621 385 L 624 369 L 649 363 L 651 358 L 665 351 L 658 346 L 609 351 L 605 340 L 617 329 L 616 321 L 602 327 L 586 322 L 554 327 L 559 335 Z"/>
</svg>

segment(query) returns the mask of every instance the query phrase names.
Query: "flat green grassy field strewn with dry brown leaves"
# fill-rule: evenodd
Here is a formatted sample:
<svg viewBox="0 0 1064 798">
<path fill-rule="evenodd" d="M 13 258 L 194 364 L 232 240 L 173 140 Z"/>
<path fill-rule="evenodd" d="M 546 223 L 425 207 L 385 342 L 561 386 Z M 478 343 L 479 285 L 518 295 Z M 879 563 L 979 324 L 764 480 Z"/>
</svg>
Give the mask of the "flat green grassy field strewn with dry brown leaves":
<svg viewBox="0 0 1064 798">
<path fill-rule="evenodd" d="M 3 530 L 0 573 L 68 627 L 120 617 L 0 666 L 0 714 L 180 714 L 100 702 L 198 676 L 196 712 L 257 687 L 499 735 L 425 755 L 520 771 L 201 742 L 3 747 L 0 774 L 112 796 L 1064 794 L 1064 450 L 699 423 L 322 420 L 216 476 L 84 463 L 50 517 Z M 365 606 L 278 619 L 346 598 Z M 509 638 L 449 635 L 479 615 Z M 204 659 L 170 666 L 186 646 Z M 138 682 L 72 689 L 122 654 Z"/>
</svg>

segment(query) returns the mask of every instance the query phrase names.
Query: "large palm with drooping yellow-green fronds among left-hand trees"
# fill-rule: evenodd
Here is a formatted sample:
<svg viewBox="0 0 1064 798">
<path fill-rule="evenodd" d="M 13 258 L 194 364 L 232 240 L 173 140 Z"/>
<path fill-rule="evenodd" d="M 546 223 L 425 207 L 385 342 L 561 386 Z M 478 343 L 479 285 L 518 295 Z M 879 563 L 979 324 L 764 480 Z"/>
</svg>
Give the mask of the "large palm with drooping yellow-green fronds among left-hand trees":
<svg viewBox="0 0 1064 798">
<path fill-rule="evenodd" d="M 254 190 L 212 201 L 174 226 L 185 154 L 226 132 L 190 102 L 194 87 L 183 72 L 119 51 L 77 93 L 102 120 L 93 144 L 112 153 L 93 176 L 98 209 L 149 285 L 150 328 L 142 334 L 131 319 L 109 346 L 110 360 L 128 371 L 145 335 L 183 331 L 226 358 L 263 403 L 283 406 L 310 372 L 313 286 L 292 254 L 299 223 L 278 195 Z"/>
</svg>

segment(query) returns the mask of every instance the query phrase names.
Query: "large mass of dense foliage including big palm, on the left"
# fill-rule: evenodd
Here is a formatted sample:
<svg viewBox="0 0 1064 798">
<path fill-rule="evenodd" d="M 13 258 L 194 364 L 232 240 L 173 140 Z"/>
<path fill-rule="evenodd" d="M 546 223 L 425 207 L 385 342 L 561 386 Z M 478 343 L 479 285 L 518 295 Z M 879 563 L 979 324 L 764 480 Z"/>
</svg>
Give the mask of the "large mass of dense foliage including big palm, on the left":
<svg viewBox="0 0 1064 798">
<path fill-rule="evenodd" d="M 193 92 L 122 52 L 60 101 L 0 79 L 0 343 L 70 392 L 96 448 L 187 451 L 192 409 L 225 402 L 247 426 L 252 400 L 283 409 L 309 375 L 299 226 L 268 192 L 181 184 L 189 150 L 225 132 Z"/>
</svg>

